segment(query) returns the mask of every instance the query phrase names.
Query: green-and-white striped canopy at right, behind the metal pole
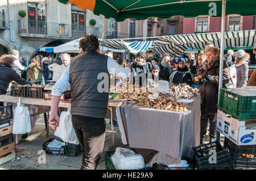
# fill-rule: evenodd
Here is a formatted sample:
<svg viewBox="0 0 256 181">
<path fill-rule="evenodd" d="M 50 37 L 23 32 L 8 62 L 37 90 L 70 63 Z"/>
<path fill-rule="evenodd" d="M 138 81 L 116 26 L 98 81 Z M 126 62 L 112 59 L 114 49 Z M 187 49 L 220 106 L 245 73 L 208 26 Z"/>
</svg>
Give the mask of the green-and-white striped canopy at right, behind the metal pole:
<svg viewBox="0 0 256 181">
<path fill-rule="evenodd" d="M 224 48 L 251 47 L 256 43 L 255 35 L 256 30 L 225 32 Z M 220 48 L 221 33 L 161 36 L 148 50 L 159 54 L 170 53 L 171 56 L 177 57 L 188 48 L 203 50 L 207 41 L 212 41 L 215 47 Z"/>
</svg>

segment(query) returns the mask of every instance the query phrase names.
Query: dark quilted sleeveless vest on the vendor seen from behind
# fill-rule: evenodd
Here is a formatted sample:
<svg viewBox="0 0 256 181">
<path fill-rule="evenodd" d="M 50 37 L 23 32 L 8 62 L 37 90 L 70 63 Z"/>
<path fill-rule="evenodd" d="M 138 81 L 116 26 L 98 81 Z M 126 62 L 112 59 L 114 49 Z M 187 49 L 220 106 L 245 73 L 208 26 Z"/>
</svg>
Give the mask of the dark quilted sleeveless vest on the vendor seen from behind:
<svg viewBox="0 0 256 181">
<path fill-rule="evenodd" d="M 108 75 L 107 92 L 98 91 L 98 74 Z M 88 50 L 77 56 L 69 70 L 71 82 L 71 114 L 104 118 L 108 110 L 110 75 L 108 72 L 108 56 L 94 50 Z M 100 86 L 102 87 L 102 86 Z"/>
</svg>

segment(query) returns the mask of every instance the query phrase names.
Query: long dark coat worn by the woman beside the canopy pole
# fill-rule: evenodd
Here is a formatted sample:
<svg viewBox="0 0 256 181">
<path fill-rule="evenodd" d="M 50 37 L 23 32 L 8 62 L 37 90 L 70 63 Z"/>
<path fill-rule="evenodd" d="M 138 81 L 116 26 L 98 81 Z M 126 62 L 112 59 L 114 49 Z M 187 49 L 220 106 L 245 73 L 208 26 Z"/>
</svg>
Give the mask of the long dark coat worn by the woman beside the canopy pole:
<svg viewBox="0 0 256 181">
<path fill-rule="evenodd" d="M 220 58 L 208 71 L 204 71 L 204 74 L 209 75 L 207 82 L 203 82 L 199 86 L 199 92 L 201 95 L 201 114 L 216 113 L 218 109 L 218 79 L 219 79 L 219 64 Z M 206 60 L 207 61 L 207 60 Z M 224 61 L 225 62 L 225 61 Z M 230 80 L 230 71 L 228 64 L 223 65 L 222 84 L 228 83 Z"/>
</svg>

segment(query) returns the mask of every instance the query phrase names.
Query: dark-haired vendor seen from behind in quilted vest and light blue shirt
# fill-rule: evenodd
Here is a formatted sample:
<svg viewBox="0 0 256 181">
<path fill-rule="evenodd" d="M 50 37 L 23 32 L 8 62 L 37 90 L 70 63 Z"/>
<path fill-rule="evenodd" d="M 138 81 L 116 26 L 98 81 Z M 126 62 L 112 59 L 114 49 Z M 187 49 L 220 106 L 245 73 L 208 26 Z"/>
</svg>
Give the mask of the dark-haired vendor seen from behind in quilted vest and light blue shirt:
<svg viewBox="0 0 256 181">
<path fill-rule="evenodd" d="M 97 36 L 86 35 L 79 42 L 82 53 L 67 66 L 52 89 L 49 124 L 56 130 L 60 96 L 71 85 L 72 124 L 82 150 L 81 169 L 96 169 L 104 148 L 104 117 L 108 110 L 109 74 L 129 77 L 130 69 L 122 68 L 113 58 L 100 54 Z M 103 82 L 102 76 L 107 75 Z M 106 86 L 107 85 L 107 86 Z"/>
</svg>

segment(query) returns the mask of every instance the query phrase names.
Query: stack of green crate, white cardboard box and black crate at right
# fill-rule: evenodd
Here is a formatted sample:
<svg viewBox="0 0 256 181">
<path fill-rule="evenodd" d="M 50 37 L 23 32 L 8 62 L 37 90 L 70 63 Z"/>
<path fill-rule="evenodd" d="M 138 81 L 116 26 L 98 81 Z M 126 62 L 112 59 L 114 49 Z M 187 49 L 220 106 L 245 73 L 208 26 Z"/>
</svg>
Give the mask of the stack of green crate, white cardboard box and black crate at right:
<svg viewBox="0 0 256 181">
<path fill-rule="evenodd" d="M 234 169 L 256 168 L 256 87 L 220 90 L 217 131 Z"/>
</svg>

